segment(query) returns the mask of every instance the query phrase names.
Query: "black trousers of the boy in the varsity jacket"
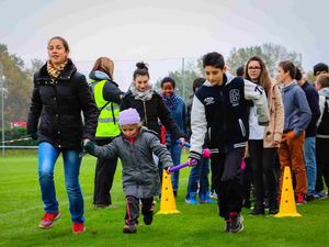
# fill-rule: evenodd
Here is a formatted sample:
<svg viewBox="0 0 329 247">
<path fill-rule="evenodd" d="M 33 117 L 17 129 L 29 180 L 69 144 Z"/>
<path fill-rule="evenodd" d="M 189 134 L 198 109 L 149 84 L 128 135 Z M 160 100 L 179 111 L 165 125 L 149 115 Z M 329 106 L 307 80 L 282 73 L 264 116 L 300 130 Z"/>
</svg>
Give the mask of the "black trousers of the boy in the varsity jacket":
<svg viewBox="0 0 329 247">
<path fill-rule="evenodd" d="M 211 164 L 216 171 L 215 191 L 218 195 L 219 216 L 229 218 L 229 213 L 241 211 L 242 172 L 241 161 L 245 148 L 236 148 L 227 154 L 212 155 Z M 220 203 L 219 203 L 220 202 Z"/>
</svg>

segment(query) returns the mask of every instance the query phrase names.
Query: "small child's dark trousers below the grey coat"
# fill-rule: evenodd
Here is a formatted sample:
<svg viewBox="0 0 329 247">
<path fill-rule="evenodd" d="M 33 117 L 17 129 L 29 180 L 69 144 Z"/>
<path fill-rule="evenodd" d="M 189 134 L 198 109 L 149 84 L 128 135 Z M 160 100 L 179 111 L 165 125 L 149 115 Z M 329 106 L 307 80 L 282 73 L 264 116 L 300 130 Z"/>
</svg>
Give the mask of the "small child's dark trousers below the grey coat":
<svg viewBox="0 0 329 247">
<path fill-rule="evenodd" d="M 133 195 L 126 197 L 126 215 L 125 223 L 126 225 L 134 225 L 138 223 L 139 216 L 139 200 L 141 202 L 141 214 L 149 215 L 154 212 L 151 211 L 154 198 L 135 198 Z"/>
</svg>

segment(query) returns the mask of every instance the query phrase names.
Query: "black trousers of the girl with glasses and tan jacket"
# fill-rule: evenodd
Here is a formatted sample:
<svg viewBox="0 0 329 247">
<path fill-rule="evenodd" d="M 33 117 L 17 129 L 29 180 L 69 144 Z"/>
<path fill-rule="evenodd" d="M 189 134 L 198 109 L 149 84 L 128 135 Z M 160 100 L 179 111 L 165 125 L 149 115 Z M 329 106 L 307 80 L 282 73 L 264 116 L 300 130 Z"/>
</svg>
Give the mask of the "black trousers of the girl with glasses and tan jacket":
<svg viewBox="0 0 329 247">
<path fill-rule="evenodd" d="M 277 148 L 263 148 L 262 139 L 252 139 L 248 143 L 253 172 L 254 209 L 264 207 L 265 188 L 268 190 L 269 206 L 276 207 L 277 179 L 275 173 L 275 156 Z"/>
</svg>

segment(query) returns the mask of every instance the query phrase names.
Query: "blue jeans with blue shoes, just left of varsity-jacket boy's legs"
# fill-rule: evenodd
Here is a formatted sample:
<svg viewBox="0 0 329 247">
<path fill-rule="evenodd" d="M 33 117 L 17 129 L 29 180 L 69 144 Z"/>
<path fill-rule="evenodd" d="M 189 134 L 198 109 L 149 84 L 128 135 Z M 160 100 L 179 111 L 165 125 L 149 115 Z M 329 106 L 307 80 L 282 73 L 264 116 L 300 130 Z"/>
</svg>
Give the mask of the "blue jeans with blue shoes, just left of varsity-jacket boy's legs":
<svg viewBox="0 0 329 247">
<path fill-rule="evenodd" d="M 190 199 L 190 195 L 196 195 L 198 183 L 198 194 L 207 194 L 209 192 L 209 160 L 201 158 L 197 166 L 191 168 L 188 186 L 188 195 L 186 199 Z"/>
</svg>

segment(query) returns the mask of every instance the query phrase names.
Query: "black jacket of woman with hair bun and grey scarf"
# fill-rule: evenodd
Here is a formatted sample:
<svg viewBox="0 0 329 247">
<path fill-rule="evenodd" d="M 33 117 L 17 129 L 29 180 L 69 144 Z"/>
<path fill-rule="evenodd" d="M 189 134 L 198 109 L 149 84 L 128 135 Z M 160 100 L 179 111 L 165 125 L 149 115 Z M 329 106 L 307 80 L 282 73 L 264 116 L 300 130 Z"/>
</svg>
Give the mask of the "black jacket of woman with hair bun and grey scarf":
<svg viewBox="0 0 329 247">
<path fill-rule="evenodd" d="M 152 98 L 148 101 L 136 100 L 129 90 L 123 98 L 120 111 L 126 110 L 128 108 L 134 108 L 140 115 L 140 120 L 144 122 L 144 126 L 158 133 L 160 138 L 160 125 L 158 117 L 164 125 L 167 131 L 171 133 L 173 138 L 179 139 L 180 137 L 185 137 L 185 135 L 179 130 L 178 125 L 174 123 L 170 115 L 170 112 L 162 101 L 162 98 L 154 92 Z"/>
</svg>

